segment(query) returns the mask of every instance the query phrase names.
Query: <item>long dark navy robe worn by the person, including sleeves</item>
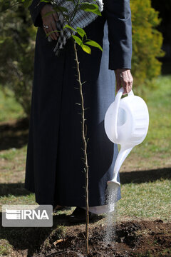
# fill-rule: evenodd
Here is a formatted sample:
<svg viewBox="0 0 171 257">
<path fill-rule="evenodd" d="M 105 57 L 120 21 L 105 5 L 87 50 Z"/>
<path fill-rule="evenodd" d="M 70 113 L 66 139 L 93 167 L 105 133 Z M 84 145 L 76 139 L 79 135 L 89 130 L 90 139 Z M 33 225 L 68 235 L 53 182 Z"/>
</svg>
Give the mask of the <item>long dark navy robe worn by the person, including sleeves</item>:
<svg viewBox="0 0 171 257">
<path fill-rule="evenodd" d="M 128 0 L 105 0 L 102 16 L 86 27 L 88 39 L 103 46 L 92 54 L 78 50 L 86 107 L 89 165 L 89 206 L 105 204 L 107 181 L 112 178 L 118 147 L 106 136 L 104 116 L 115 99 L 115 69 L 131 68 L 131 13 Z M 48 42 L 39 6 L 29 10 L 38 26 L 31 98 L 31 119 L 26 155 L 25 188 L 38 204 L 86 206 L 81 97 L 76 80 L 73 41 L 60 56 Z M 110 43 L 110 44 L 109 44 Z M 118 181 L 120 176 L 118 173 Z M 120 188 L 118 188 L 118 200 Z"/>
</svg>

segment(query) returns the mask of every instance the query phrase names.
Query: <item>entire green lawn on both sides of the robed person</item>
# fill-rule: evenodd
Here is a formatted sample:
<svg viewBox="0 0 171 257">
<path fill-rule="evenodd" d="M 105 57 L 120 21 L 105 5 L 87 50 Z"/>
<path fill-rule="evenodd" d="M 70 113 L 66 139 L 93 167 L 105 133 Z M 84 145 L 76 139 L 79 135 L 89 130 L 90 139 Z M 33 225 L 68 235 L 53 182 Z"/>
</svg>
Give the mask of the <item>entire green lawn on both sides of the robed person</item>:
<svg viewBox="0 0 171 257">
<path fill-rule="evenodd" d="M 171 221 L 171 76 L 160 76 L 156 84 L 154 91 L 145 89 L 145 101 L 150 113 L 147 137 L 133 148 L 120 170 L 122 198 L 117 204 L 119 220 L 161 218 Z M 10 92 L 5 99 L 0 91 L 0 111 L 0 127 L 4 126 L 4 122 L 21 118 L 23 114 Z M 20 137 L 21 134 L 27 138 L 28 129 L 15 132 L 15 136 Z M 11 136 L 9 133 L 5 135 Z M 21 141 L 19 146 L 13 142 L 8 141 L 7 145 L 2 143 L 1 146 L 0 204 L 36 204 L 34 194 L 24 189 L 26 140 Z M 71 211 L 61 213 L 69 215 Z M 58 228 L 56 224 L 55 228 Z M 12 256 L 13 250 L 6 233 L 14 231 L 18 233 L 16 228 L 11 232 L 1 229 L 0 256 L 9 253 Z"/>
</svg>

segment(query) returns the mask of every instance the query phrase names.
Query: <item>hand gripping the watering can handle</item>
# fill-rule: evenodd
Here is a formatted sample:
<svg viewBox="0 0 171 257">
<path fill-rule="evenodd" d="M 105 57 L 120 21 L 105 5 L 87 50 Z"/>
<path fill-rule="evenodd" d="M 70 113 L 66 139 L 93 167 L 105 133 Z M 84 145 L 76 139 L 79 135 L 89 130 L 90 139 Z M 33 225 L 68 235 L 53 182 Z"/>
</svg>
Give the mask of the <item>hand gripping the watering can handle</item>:
<svg viewBox="0 0 171 257">
<path fill-rule="evenodd" d="M 116 92 L 123 86 L 123 94 L 128 94 L 133 88 L 133 76 L 130 73 L 130 69 L 116 69 Z"/>
</svg>

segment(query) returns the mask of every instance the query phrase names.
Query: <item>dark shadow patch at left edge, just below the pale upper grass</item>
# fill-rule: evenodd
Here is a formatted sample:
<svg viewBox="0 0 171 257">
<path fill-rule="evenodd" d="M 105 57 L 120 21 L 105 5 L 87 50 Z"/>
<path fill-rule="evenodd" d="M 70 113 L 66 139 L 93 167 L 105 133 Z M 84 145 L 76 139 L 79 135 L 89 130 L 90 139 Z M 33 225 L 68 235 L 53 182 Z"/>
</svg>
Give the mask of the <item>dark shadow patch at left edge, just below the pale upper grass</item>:
<svg viewBox="0 0 171 257">
<path fill-rule="evenodd" d="M 15 122 L 0 124 L 0 151 L 10 148 L 21 148 L 28 143 L 28 119 L 19 119 Z"/>
</svg>

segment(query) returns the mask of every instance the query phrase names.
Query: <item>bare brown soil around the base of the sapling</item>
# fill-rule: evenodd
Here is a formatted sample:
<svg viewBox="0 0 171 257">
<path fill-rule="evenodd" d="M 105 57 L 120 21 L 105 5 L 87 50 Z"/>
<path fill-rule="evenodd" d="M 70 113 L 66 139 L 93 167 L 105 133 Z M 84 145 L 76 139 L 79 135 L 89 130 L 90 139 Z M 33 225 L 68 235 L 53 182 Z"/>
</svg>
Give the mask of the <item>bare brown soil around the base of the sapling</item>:
<svg viewBox="0 0 171 257">
<path fill-rule="evenodd" d="M 122 221 L 116 223 L 115 235 L 105 243 L 105 226 L 97 224 L 89 231 L 88 256 L 171 256 L 171 223 L 155 221 Z M 35 257 L 86 256 L 85 226 L 67 228 L 63 238 L 50 238 L 49 245 L 42 246 Z"/>
</svg>

